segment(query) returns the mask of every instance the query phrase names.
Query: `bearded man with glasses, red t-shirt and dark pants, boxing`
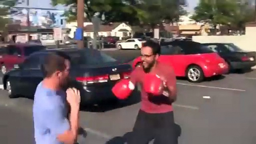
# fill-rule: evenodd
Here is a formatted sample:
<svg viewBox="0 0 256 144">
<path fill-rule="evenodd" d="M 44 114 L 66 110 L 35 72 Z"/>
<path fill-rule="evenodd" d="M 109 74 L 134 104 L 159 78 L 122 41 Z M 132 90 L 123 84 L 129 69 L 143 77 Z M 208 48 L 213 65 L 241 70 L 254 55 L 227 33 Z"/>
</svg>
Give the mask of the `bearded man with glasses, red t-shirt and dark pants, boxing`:
<svg viewBox="0 0 256 144">
<path fill-rule="evenodd" d="M 158 43 L 144 43 L 144 47 L 141 48 L 143 63 L 131 73 L 131 82 L 141 85 L 141 108 L 128 144 L 147 144 L 152 139 L 154 144 L 175 143 L 172 103 L 177 98 L 176 77 L 171 66 L 157 61 L 159 54 Z M 143 83 L 146 73 L 156 74 L 162 79 L 165 87 L 163 94 L 153 96 L 145 92 Z"/>
</svg>

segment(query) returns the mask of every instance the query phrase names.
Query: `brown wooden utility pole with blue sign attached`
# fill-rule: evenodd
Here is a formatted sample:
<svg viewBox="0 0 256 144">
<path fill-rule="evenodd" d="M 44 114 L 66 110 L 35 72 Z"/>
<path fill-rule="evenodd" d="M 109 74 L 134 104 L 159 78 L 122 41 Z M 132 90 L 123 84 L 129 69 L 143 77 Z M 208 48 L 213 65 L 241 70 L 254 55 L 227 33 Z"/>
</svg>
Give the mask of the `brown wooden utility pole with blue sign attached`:
<svg viewBox="0 0 256 144">
<path fill-rule="evenodd" d="M 84 29 L 84 0 L 77 0 L 77 28 Z M 84 31 L 82 40 L 77 41 L 78 48 L 84 48 Z"/>
</svg>

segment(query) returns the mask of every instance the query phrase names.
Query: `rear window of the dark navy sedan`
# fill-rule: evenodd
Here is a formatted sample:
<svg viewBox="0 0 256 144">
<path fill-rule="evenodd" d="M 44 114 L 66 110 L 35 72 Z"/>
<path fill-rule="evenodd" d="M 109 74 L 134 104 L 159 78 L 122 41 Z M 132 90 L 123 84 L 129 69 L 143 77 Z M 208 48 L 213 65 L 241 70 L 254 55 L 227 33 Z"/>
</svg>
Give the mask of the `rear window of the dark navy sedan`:
<svg viewBox="0 0 256 144">
<path fill-rule="evenodd" d="M 100 51 L 90 50 L 80 53 L 70 53 L 72 63 L 79 65 L 102 65 L 106 63 L 116 63 L 118 60 Z"/>
</svg>

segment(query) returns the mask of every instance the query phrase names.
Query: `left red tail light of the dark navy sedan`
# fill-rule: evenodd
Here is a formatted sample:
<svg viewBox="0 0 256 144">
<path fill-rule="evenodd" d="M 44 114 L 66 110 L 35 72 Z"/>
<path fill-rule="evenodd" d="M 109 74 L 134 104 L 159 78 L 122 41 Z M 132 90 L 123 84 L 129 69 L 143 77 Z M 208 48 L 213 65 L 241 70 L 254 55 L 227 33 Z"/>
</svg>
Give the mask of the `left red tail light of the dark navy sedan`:
<svg viewBox="0 0 256 144">
<path fill-rule="evenodd" d="M 100 82 L 107 82 L 109 79 L 109 75 L 99 75 L 99 76 L 84 76 L 77 77 L 76 80 L 83 83 L 93 84 Z"/>
</svg>

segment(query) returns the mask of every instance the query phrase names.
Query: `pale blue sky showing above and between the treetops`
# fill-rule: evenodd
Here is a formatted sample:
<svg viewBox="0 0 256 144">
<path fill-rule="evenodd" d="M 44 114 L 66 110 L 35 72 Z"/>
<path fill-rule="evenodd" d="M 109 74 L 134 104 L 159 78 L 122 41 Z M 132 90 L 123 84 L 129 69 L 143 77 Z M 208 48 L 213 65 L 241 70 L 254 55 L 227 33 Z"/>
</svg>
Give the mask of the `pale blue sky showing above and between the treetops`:
<svg viewBox="0 0 256 144">
<path fill-rule="evenodd" d="M 19 1 L 26 1 L 26 0 L 19 0 Z M 188 7 L 186 8 L 188 12 L 193 12 L 194 7 L 197 5 L 199 0 L 187 0 Z M 51 0 L 29 0 L 30 7 L 41 7 L 41 8 L 53 8 L 51 6 Z M 26 3 L 18 4 L 17 6 L 25 6 Z M 63 9 L 62 6 L 58 6 L 58 9 Z"/>
</svg>

